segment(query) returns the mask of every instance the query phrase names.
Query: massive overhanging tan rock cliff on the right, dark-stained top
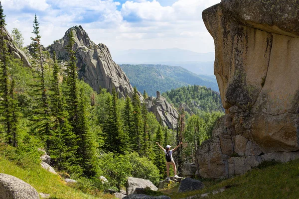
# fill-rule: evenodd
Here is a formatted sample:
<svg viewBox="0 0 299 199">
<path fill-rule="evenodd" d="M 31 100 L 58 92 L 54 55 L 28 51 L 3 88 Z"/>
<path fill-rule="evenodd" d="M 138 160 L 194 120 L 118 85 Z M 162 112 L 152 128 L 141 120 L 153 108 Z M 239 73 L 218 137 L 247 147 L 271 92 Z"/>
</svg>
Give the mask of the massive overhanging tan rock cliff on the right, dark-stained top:
<svg viewBox="0 0 299 199">
<path fill-rule="evenodd" d="M 226 115 L 197 150 L 200 176 L 299 158 L 299 2 L 222 0 L 202 16 Z"/>
</svg>

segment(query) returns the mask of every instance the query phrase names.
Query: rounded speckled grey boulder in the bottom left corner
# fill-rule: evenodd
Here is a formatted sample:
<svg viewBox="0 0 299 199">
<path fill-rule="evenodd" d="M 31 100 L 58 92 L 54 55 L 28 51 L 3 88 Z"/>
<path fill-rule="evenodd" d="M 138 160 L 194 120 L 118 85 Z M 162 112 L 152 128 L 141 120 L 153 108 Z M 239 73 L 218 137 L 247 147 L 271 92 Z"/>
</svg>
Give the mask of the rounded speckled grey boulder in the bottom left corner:
<svg viewBox="0 0 299 199">
<path fill-rule="evenodd" d="M 39 199 L 36 190 L 24 181 L 0 174 L 0 199 Z"/>
</svg>

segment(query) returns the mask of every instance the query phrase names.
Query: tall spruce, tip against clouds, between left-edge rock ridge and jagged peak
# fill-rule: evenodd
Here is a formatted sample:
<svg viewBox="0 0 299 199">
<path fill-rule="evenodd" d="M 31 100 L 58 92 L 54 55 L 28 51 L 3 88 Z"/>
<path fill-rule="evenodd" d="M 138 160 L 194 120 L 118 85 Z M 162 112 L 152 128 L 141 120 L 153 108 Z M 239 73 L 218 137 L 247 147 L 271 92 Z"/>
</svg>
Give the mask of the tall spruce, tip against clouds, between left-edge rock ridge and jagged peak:
<svg viewBox="0 0 299 199">
<path fill-rule="evenodd" d="M 46 143 L 46 150 L 50 148 L 50 137 L 52 136 L 50 131 L 50 110 L 49 110 L 49 98 L 48 88 L 45 85 L 45 70 L 43 63 L 43 54 L 40 45 L 39 35 L 39 23 L 37 21 L 36 14 L 33 21 L 33 32 L 35 37 L 31 37 L 33 44 L 34 58 L 33 66 L 35 68 L 35 84 L 33 84 L 33 99 L 35 104 L 32 108 L 32 114 L 30 120 L 33 121 L 33 129 Z"/>
</svg>

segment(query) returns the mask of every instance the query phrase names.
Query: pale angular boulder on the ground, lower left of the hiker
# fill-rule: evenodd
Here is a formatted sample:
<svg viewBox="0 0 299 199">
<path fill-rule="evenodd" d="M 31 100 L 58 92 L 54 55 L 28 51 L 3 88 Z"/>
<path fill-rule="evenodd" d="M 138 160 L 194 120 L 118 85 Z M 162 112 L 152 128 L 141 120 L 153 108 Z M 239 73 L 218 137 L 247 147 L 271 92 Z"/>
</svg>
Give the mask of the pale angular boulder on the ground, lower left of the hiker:
<svg viewBox="0 0 299 199">
<path fill-rule="evenodd" d="M 152 191 L 158 190 L 158 188 L 156 188 L 149 180 L 128 177 L 128 180 L 126 183 L 127 195 L 133 194 L 135 192 L 136 188 L 142 188 L 142 189 L 148 188 Z"/>
</svg>

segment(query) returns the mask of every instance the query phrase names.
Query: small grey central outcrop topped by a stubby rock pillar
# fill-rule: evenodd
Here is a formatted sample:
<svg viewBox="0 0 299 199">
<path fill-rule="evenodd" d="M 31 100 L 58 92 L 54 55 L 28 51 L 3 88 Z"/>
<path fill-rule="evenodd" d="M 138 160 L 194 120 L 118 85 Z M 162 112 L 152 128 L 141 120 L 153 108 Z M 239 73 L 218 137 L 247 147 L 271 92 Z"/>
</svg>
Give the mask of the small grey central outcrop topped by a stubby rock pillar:
<svg viewBox="0 0 299 199">
<path fill-rule="evenodd" d="M 174 106 L 161 97 L 157 91 L 157 98 L 149 97 L 145 100 L 147 109 L 156 116 L 157 120 L 161 119 L 164 126 L 168 126 L 170 129 L 176 128 L 178 112 Z"/>
</svg>

